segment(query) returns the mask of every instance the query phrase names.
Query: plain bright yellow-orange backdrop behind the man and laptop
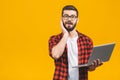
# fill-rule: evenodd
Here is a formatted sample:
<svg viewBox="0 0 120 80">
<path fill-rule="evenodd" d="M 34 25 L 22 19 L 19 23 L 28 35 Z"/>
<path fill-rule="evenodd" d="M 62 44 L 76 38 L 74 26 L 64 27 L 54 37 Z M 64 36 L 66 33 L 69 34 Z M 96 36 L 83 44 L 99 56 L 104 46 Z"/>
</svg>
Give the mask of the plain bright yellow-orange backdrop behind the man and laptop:
<svg viewBox="0 0 120 80">
<path fill-rule="evenodd" d="M 77 29 L 94 45 L 116 42 L 89 80 L 120 80 L 120 0 L 0 0 L 0 80 L 52 80 L 48 39 L 61 32 L 62 7 L 79 10 Z"/>
</svg>

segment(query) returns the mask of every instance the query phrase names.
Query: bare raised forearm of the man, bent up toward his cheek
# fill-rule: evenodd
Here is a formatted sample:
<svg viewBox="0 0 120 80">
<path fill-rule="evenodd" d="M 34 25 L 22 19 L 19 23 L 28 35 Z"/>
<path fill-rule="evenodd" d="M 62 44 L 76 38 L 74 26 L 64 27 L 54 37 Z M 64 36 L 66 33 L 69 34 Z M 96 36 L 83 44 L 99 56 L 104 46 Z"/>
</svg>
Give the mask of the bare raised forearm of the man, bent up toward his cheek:
<svg viewBox="0 0 120 80">
<path fill-rule="evenodd" d="M 67 43 L 68 35 L 64 34 L 60 42 L 52 48 L 52 57 L 54 59 L 58 59 L 62 56 L 66 43 Z"/>
</svg>

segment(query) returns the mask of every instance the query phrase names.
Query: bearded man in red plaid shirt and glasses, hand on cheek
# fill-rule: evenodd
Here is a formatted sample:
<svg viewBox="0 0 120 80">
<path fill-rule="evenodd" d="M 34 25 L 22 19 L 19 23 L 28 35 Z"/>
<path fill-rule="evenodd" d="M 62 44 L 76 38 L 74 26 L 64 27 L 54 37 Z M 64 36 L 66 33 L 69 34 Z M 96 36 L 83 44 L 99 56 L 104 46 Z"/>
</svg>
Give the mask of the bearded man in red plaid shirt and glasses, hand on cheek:
<svg viewBox="0 0 120 80">
<path fill-rule="evenodd" d="M 91 39 L 76 30 L 77 22 L 78 10 L 73 5 L 65 6 L 61 18 L 62 33 L 49 40 L 50 56 L 55 62 L 53 80 L 88 80 L 88 71 L 102 64 L 98 59 L 89 67 L 73 68 L 87 63 L 93 48 Z"/>
</svg>

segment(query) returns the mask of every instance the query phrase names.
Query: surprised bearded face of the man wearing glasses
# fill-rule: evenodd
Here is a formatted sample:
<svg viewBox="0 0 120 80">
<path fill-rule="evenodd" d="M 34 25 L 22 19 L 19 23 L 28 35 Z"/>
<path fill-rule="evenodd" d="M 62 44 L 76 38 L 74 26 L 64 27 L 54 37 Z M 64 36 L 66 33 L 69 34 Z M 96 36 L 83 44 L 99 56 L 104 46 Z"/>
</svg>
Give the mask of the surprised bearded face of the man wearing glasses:
<svg viewBox="0 0 120 80">
<path fill-rule="evenodd" d="M 74 30 L 77 23 L 77 13 L 74 10 L 64 10 L 62 15 L 62 22 L 65 29 L 70 32 Z"/>
</svg>

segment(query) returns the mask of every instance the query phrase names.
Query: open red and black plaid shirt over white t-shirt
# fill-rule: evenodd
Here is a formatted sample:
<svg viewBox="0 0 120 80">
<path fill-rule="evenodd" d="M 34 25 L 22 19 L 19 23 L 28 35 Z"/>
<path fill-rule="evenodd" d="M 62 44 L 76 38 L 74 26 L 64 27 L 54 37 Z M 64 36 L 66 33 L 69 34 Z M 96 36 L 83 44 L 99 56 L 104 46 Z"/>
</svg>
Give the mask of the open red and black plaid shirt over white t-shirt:
<svg viewBox="0 0 120 80">
<path fill-rule="evenodd" d="M 85 64 L 88 62 L 88 58 L 90 56 L 90 53 L 92 52 L 93 48 L 93 43 L 91 39 L 82 34 L 78 33 L 78 40 L 77 40 L 77 45 L 78 45 L 78 64 Z M 50 56 L 51 51 L 53 46 L 55 46 L 62 38 L 63 34 L 58 34 L 55 36 L 52 36 L 49 39 L 49 52 Z M 57 59 L 54 60 L 55 63 L 55 73 L 54 73 L 54 78 L 53 80 L 67 80 L 68 78 L 68 58 L 67 58 L 67 44 L 64 50 L 63 55 Z M 88 80 L 88 68 L 87 67 L 82 67 L 79 68 L 79 80 Z"/>
</svg>

